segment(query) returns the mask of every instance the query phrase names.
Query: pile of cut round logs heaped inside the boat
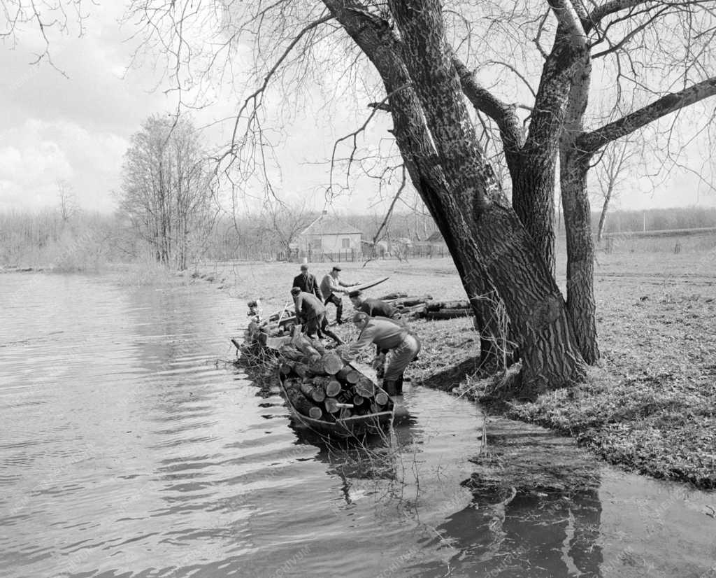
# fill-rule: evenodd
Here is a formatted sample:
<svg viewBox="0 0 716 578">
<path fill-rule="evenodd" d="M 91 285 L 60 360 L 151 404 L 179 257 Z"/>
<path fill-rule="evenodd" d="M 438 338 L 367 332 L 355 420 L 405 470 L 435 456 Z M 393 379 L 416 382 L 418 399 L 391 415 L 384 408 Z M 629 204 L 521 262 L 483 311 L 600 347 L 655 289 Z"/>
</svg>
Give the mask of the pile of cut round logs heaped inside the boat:
<svg viewBox="0 0 716 578">
<path fill-rule="evenodd" d="M 314 420 L 335 421 L 390 410 L 387 393 L 318 339 L 301 335 L 279 350 L 279 376 L 289 403 Z"/>
</svg>

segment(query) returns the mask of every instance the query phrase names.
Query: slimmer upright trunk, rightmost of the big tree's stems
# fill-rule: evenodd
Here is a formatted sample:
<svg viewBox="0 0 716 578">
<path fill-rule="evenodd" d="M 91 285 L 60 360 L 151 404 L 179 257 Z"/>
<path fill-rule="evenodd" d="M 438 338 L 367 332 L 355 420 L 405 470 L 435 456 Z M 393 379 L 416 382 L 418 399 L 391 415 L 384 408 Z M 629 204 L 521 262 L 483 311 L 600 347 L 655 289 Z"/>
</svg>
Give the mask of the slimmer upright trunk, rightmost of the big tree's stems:
<svg viewBox="0 0 716 578">
<path fill-rule="evenodd" d="M 599 361 L 594 302 L 594 240 L 586 175 L 591 155 L 575 146 L 581 134 L 591 61 L 586 55 L 574 74 L 561 136 L 560 183 L 567 241 L 567 313 L 579 352 L 590 365 Z"/>
</svg>

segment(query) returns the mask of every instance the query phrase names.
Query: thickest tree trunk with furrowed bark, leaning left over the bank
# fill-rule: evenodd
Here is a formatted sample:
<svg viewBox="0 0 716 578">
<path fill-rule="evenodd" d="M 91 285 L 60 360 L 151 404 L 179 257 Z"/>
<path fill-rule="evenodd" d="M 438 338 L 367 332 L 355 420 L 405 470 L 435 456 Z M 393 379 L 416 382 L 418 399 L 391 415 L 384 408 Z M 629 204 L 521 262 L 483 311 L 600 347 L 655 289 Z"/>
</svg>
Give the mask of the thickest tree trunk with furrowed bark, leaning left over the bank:
<svg viewBox="0 0 716 578">
<path fill-rule="evenodd" d="M 485 272 L 505 303 L 521 346 L 511 395 L 533 398 L 584 379 L 556 282 L 498 186 L 478 145 L 460 80 L 445 51 L 437 0 L 390 6 L 401 29 L 345 1 L 324 0 L 377 67 L 390 95 L 394 133 L 415 188 L 441 233 L 455 242 L 463 284 Z M 478 265 L 478 266 L 475 266 Z"/>
</svg>

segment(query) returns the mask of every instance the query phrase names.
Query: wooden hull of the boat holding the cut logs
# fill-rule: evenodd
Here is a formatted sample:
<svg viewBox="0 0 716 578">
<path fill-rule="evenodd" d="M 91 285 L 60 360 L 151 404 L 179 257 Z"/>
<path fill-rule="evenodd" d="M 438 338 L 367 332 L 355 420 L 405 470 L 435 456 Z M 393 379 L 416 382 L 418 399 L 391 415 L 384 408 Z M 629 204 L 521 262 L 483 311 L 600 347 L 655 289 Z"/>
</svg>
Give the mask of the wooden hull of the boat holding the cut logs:
<svg viewBox="0 0 716 578">
<path fill-rule="evenodd" d="M 352 365 L 354 367 L 354 365 Z M 356 367 L 354 369 L 357 370 Z M 377 392 L 383 392 L 388 398 L 388 410 L 368 413 L 366 415 L 353 415 L 349 418 L 336 418 L 334 421 L 328 421 L 310 418 L 294 408 L 291 404 L 288 392 L 284 385 L 284 376 L 279 373 L 279 382 L 281 384 L 281 393 L 286 399 L 286 405 L 291 412 L 291 416 L 300 425 L 312 430 L 320 435 L 335 438 L 364 438 L 366 435 L 374 435 L 381 433 L 384 428 L 392 424 L 394 418 L 395 404 L 389 395 L 378 385 L 375 385 Z"/>
</svg>

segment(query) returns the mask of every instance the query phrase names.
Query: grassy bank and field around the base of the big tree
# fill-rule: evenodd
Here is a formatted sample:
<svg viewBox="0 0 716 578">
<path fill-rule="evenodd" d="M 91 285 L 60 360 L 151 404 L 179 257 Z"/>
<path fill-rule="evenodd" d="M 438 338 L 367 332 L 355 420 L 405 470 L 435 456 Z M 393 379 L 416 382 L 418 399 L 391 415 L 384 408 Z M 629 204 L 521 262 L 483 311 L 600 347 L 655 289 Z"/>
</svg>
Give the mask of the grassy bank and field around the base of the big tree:
<svg viewBox="0 0 716 578">
<path fill-rule="evenodd" d="M 715 488 L 715 257 L 696 251 L 601 254 L 595 284 L 602 367 L 573 390 L 493 410 L 573 435 L 625 468 Z M 311 271 L 320 276 L 330 266 L 314 264 Z M 437 299 L 463 295 L 448 259 L 343 268 L 347 280 L 390 274 L 389 281 L 369 292 L 374 297 L 394 291 Z M 261 297 L 266 312 L 289 302 L 297 270 L 296 264 L 221 264 L 208 272 L 226 277 L 226 290 L 238 298 L 238 329 L 246 319 L 246 299 Z M 564 270 L 563 264 L 558 270 Z M 563 276 L 558 281 L 563 284 Z M 347 299 L 344 303 L 350 312 Z M 423 342 L 420 359 L 408 372 L 413 382 L 479 399 L 486 382 L 476 365 L 478 341 L 470 319 L 412 325 Z M 342 337 L 353 337 L 350 325 L 337 329 Z"/>
</svg>

